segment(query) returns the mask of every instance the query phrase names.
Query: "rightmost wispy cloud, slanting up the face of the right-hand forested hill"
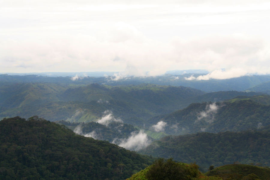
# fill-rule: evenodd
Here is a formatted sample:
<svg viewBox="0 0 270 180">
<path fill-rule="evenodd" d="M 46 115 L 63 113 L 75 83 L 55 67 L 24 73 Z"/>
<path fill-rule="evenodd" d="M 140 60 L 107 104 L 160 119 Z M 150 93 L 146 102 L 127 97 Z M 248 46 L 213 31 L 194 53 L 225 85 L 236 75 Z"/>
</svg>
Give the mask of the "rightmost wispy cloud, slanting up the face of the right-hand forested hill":
<svg viewBox="0 0 270 180">
<path fill-rule="evenodd" d="M 205 110 L 199 113 L 197 116 L 197 121 L 204 120 L 205 122 L 211 123 L 214 121 L 214 115 L 217 113 L 218 106 L 216 103 L 207 104 Z"/>
</svg>

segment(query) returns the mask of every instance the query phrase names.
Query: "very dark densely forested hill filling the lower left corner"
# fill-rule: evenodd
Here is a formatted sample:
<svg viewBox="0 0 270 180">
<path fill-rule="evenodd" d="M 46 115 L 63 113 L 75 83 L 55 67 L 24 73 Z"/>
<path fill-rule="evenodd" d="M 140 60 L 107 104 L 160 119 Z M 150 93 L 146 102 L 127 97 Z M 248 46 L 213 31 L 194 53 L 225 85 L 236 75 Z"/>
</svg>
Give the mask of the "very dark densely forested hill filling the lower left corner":
<svg viewBox="0 0 270 180">
<path fill-rule="evenodd" d="M 0 179 L 126 179 L 148 156 L 37 117 L 0 121 Z"/>
</svg>

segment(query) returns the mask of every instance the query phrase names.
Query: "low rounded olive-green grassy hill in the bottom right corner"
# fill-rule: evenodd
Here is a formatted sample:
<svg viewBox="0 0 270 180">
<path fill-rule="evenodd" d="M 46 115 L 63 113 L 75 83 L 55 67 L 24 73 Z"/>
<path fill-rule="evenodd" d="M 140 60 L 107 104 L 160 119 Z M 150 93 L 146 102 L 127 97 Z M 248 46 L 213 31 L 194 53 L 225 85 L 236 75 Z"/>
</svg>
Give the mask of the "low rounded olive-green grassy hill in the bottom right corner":
<svg viewBox="0 0 270 180">
<path fill-rule="evenodd" d="M 270 178 L 270 169 L 247 164 L 228 164 L 205 173 L 206 176 L 220 176 L 239 180 L 244 178 L 248 180 L 247 177 L 251 177 L 250 174 L 256 175 L 261 180 L 268 180 Z"/>
</svg>

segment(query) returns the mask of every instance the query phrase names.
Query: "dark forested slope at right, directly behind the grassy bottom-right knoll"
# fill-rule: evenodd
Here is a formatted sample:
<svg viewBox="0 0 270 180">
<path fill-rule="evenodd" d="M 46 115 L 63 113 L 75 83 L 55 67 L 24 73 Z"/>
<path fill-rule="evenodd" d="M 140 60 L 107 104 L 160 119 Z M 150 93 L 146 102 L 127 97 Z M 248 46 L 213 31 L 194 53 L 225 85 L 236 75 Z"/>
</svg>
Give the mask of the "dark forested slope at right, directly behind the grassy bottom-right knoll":
<svg viewBox="0 0 270 180">
<path fill-rule="evenodd" d="M 264 131 L 197 133 L 163 137 L 139 152 L 161 158 L 172 157 L 184 163 L 195 161 L 203 171 L 210 165 L 217 167 L 235 161 L 266 166 L 270 161 L 269 139 L 269 126 Z"/>
</svg>

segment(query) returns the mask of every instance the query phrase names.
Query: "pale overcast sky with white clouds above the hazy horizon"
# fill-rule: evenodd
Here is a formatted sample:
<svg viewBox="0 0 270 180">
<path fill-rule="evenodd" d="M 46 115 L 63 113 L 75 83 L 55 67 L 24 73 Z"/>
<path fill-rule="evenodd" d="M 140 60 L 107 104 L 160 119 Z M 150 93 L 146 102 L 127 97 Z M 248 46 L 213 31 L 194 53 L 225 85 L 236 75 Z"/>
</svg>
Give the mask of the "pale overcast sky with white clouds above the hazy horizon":
<svg viewBox="0 0 270 180">
<path fill-rule="evenodd" d="M 1 0 L 0 73 L 270 73 L 270 1 Z"/>
</svg>

